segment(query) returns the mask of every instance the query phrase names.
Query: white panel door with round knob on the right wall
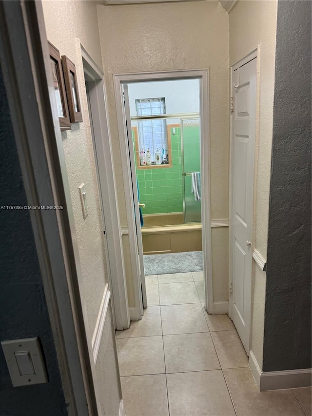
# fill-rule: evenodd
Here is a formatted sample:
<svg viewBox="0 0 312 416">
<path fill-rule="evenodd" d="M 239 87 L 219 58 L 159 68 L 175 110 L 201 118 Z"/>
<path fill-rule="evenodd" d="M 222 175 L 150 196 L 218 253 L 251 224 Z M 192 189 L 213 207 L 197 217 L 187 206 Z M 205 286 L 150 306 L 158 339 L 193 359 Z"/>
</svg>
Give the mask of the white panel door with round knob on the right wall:
<svg viewBox="0 0 312 416">
<path fill-rule="evenodd" d="M 235 67 L 234 67 L 235 68 Z M 232 319 L 249 355 L 257 59 L 233 71 Z"/>
</svg>

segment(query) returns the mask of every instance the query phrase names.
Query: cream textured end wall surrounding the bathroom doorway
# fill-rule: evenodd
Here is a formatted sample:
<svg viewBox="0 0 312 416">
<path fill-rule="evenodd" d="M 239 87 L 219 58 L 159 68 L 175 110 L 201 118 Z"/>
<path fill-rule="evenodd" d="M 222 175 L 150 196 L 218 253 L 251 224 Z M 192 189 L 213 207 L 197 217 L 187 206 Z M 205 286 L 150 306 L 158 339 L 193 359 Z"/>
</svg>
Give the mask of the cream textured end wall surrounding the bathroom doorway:
<svg viewBox="0 0 312 416">
<path fill-rule="evenodd" d="M 229 16 L 226 11 L 218 1 L 98 4 L 98 24 L 121 225 L 127 226 L 127 218 L 113 74 L 131 72 L 209 68 L 211 214 L 212 219 L 228 218 Z M 223 233 L 218 230 L 214 235 L 218 232 Z M 216 263 L 220 257 L 218 250 L 226 256 L 228 249 L 219 247 L 214 236 L 212 243 Z M 127 269 L 129 280 L 131 270 Z M 228 274 L 223 273 L 214 275 L 218 286 L 215 300 L 228 299 Z M 132 306 L 132 295 L 128 297 Z"/>
</svg>

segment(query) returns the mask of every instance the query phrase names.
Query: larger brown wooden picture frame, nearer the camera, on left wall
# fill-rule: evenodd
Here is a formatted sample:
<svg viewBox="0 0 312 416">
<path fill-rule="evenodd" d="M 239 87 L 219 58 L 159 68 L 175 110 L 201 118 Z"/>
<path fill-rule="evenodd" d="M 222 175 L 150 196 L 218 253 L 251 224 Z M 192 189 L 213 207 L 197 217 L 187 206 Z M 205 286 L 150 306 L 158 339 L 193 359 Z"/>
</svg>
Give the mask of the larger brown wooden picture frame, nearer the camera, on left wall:
<svg viewBox="0 0 312 416">
<path fill-rule="evenodd" d="M 61 131 L 70 130 L 70 118 L 67 104 L 67 97 L 65 91 L 64 76 L 62 71 L 62 63 L 59 55 L 59 49 L 57 49 L 51 42 L 49 44 L 49 52 L 51 59 L 52 74 L 54 80 L 55 98 L 57 101 L 58 113 L 59 113 L 59 125 Z"/>
</svg>

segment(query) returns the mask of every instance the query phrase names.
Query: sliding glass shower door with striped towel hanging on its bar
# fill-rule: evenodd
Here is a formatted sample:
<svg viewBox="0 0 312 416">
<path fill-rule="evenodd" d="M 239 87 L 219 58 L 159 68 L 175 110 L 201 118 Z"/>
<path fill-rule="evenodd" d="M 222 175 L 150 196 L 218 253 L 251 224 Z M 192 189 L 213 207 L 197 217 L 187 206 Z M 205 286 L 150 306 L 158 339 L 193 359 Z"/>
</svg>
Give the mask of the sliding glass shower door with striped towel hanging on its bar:
<svg viewBox="0 0 312 416">
<path fill-rule="evenodd" d="M 184 222 L 201 222 L 200 119 L 181 119 Z"/>
</svg>

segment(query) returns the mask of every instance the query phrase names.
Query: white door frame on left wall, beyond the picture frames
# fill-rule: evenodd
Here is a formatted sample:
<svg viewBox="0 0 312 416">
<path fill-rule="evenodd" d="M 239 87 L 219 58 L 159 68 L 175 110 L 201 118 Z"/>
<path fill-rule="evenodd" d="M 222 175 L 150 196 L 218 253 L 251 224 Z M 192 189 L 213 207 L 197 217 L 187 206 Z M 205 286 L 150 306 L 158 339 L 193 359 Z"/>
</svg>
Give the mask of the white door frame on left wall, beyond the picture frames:
<svg viewBox="0 0 312 416">
<path fill-rule="evenodd" d="M 123 330 L 130 326 L 127 285 L 120 234 L 120 220 L 117 206 L 115 169 L 113 166 L 112 140 L 108 128 L 107 100 L 104 74 L 90 57 L 79 40 L 83 72 L 89 85 L 87 92 L 92 133 L 93 150 L 98 178 L 98 192 L 101 216 L 108 251 L 108 277 L 111 289 L 112 309 L 115 329 Z"/>
</svg>

